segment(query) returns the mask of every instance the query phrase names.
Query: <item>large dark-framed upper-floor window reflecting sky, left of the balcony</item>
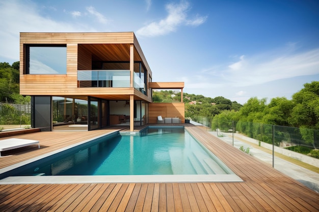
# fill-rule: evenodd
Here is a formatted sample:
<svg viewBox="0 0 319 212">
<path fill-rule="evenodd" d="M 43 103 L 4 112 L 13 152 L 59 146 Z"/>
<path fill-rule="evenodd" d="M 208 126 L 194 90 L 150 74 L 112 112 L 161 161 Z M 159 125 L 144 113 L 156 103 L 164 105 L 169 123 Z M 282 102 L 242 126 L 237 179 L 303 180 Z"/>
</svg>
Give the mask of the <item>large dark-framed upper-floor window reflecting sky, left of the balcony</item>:
<svg viewBox="0 0 319 212">
<path fill-rule="evenodd" d="M 66 74 L 66 45 L 26 45 L 26 74 Z"/>
</svg>

